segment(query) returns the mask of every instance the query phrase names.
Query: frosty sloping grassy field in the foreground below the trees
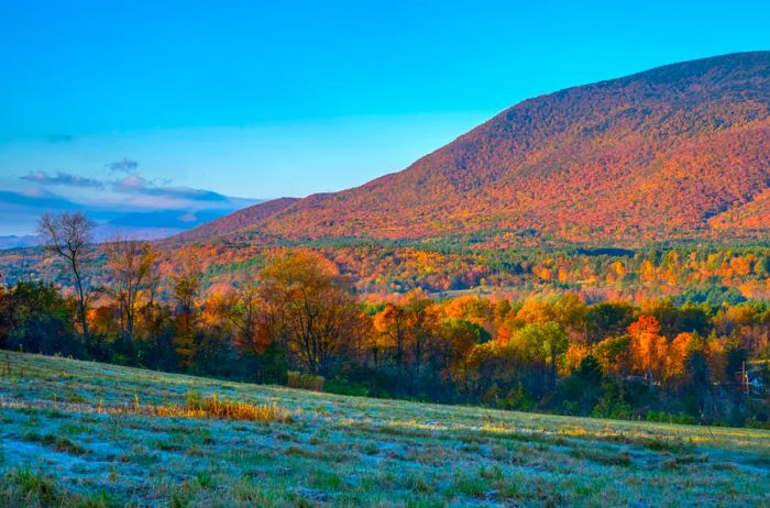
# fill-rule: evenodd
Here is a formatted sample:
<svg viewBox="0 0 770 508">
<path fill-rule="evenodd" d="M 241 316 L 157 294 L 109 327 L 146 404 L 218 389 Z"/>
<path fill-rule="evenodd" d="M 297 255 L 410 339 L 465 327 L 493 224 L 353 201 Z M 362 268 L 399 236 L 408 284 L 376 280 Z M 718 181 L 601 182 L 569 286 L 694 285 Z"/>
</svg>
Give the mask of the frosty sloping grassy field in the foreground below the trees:
<svg viewBox="0 0 770 508">
<path fill-rule="evenodd" d="M 769 504 L 768 431 L 342 397 L 0 352 L 0 506 Z"/>
</svg>

